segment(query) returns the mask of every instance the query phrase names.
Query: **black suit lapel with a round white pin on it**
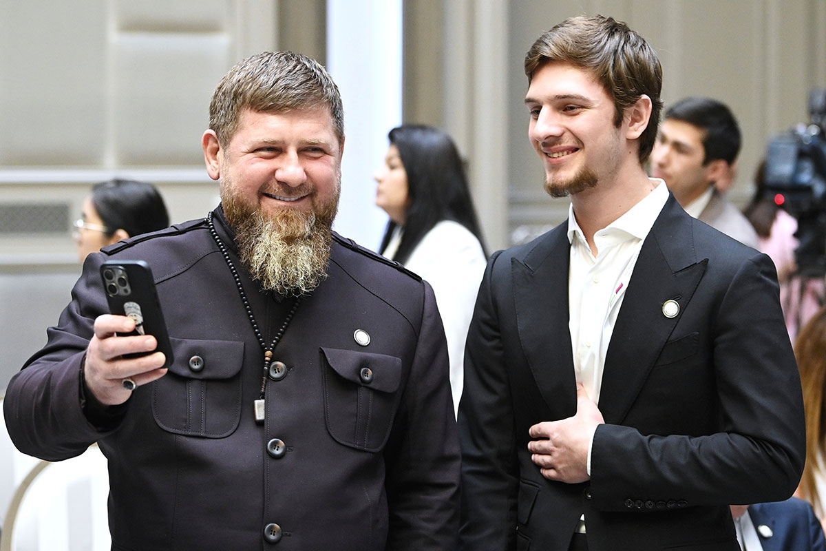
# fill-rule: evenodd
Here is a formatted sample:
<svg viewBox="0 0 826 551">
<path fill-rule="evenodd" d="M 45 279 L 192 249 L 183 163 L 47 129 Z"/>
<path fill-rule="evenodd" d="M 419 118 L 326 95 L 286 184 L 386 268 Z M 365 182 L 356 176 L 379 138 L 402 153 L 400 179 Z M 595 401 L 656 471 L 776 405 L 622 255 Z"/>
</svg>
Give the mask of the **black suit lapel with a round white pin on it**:
<svg viewBox="0 0 826 551">
<path fill-rule="evenodd" d="M 624 420 L 705 273 L 691 224 L 671 195 L 643 242 L 605 357 L 599 406 L 607 423 Z M 667 301 L 679 305 L 675 317 L 663 313 Z"/>
</svg>

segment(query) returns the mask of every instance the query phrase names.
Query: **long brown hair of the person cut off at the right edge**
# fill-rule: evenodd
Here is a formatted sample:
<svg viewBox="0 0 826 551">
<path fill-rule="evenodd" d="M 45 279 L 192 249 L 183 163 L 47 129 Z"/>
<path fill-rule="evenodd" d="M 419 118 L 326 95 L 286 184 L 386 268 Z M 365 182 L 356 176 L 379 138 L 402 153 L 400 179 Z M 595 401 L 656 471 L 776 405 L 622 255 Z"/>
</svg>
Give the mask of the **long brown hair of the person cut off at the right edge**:
<svg viewBox="0 0 826 551">
<path fill-rule="evenodd" d="M 824 515 L 819 504 L 814 473 L 818 456 L 824 450 L 826 436 L 826 306 L 809 319 L 795 339 L 795 357 L 803 387 L 803 406 L 806 415 L 806 463 L 800 478 L 800 492 L 814 505 L 817 514 Z"/>
</svg>

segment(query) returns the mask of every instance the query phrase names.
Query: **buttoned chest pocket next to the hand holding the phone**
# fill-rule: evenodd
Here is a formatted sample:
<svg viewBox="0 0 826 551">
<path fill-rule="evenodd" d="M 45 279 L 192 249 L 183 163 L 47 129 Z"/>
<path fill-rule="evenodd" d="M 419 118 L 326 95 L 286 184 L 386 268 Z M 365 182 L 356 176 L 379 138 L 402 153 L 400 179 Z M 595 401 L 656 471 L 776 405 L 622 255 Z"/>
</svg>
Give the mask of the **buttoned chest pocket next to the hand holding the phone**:
<svg viewBox="0 0 826 551">
<path fill-rule="evenodd" d="M 232 434 L 241 417 L 244 343 L 170 340 L 175 361 L 152 387 L 155 421 L 176 435 L 223 438 Z"/>
</svg>

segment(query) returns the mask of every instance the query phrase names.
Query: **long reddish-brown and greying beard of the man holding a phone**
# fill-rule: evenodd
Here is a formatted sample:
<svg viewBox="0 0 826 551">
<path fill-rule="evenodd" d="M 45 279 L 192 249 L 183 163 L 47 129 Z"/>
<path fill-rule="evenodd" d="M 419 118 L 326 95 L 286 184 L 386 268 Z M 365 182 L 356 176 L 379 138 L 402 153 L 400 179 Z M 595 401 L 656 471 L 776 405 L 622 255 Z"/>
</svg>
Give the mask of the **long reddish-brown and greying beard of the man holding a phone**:
<svg viewBox="0 0 826 551">
<path fill-rule="evenodd" d="M 285 208 L 266 216 L 241 204 L 230 185 L 221 189 L 221 204 L 235 230 L 241 263 L 264 289 L 297 297 L 327 278 L 338 197 L 317 211 Z"/>
</svg>

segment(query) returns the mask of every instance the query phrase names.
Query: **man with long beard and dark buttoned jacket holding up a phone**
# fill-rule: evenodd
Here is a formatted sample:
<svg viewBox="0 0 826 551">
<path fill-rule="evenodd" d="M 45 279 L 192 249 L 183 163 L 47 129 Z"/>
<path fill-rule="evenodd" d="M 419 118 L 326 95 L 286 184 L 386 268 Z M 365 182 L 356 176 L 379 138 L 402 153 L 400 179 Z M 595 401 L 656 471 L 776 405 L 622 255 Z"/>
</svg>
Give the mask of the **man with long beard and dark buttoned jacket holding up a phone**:
<svg viewBox="0 0 826 551">
<path fill-rule="evenodd" d="M 439 549 L 459 449 L 433 290 L 335 235 L 338 88 L 263 53 L 218 84 L 202 139 L 221 206 L 92 254 L 49 342 L 10 382 L 27 454 L 97 442 L 112 549 Z M 154 272 L 174 361 L 107 315 L 98 268 Z"/>
</svg>

